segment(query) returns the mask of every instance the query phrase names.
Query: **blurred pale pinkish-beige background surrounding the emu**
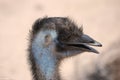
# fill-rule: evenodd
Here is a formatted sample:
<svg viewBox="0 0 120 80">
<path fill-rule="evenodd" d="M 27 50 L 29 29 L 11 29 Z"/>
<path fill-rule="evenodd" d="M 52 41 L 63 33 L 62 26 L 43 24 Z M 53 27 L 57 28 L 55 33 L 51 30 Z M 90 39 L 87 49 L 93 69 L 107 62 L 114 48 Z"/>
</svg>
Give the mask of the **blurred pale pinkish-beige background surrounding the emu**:
<svg viewBox="0 0 120 80">
<path fill-rule="evenodd" d="M 0 0 L 0 80 L 32 80 L 27 60 L 29 30 L 44 16 L 69 16 L 103 44 L 97 48 L 100 54 L 83 53 L 64 60 L 63 80 L 89 80 L 98 70 L 106 76 L 108 68 L 112 71 L 108 80 L 120 80 L 120 0 Z"/>
</svg>

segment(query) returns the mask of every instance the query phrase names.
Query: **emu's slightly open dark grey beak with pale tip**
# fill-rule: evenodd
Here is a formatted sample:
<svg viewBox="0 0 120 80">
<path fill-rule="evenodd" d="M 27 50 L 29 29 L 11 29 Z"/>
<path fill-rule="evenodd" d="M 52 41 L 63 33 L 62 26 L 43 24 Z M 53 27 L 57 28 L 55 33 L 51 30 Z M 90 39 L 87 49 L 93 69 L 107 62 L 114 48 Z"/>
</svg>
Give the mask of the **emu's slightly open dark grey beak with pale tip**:
<svg viewBox="0 0 120 80">
<path fill-rule="evenodd" d="M 80 41 L 66 42 L 65 44 L 67 46 L 78 47 L 83 51 L 94 52 L 94 53 L 99 53 L 99 52 L 90 46 L 102 47 L 101 43 L 95 41 L 94 39 L 92 39 L 88 35 L 82 35 L 82 37 L 80 38 Z"/>
</svg>

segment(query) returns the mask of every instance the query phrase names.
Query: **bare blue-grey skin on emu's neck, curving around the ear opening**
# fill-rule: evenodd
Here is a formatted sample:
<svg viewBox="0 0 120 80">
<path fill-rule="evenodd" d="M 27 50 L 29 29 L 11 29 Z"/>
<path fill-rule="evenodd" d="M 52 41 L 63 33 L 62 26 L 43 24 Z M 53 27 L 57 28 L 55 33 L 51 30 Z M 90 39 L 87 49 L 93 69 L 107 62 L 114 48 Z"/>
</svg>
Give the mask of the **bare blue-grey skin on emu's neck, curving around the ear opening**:
<svg viewBox="0 0 120 80">
<path fill-rule="evenodd" d="M 57 37 L 55 31 L 41 31 L 37 34 L 32 44 L 32 52 L 38 67 L 41 69 L 42 74 L 46 77 L 46 80 L 52 79 L 55 69 L 56 58 L 52 54 L 52 48 L 54 44 L 46 45 L 45 36 L 51 35 L 52 39 Z M 53 40 L 54 41 L 54 40 Z"/>
</svg>

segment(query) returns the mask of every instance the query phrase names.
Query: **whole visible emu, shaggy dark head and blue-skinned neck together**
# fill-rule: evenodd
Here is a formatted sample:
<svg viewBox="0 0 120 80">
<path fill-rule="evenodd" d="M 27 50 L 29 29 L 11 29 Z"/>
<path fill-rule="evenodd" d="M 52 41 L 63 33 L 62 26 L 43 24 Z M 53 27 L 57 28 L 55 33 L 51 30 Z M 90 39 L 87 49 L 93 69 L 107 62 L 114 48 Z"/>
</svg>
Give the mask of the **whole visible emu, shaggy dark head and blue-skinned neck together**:
<svg viewBox="0 0 120 80">
<path fill-rule="evenodd" d="M 83 52 L 98 53 L 102 45 L 83 33 L 68 17 L 44 17 L 33 24 L 29 61 L 34 80 L 61 80 L 60 62 Z"/>
</svg>

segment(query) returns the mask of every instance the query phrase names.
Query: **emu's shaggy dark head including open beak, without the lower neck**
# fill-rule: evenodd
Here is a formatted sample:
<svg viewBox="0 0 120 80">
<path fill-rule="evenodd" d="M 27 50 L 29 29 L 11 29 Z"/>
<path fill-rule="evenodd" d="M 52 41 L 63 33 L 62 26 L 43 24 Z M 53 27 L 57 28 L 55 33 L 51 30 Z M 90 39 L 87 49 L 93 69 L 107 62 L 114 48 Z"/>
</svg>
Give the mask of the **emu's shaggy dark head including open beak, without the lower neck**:
<svg viewBox="0 0 120 80">
<path fill-rule="evenodd" d="M 32 28 L 31 42 L 36 42 L 38 49 L 49 50 L 56 58 L 62 59 L 82 52 L 98 53 L 90 46 L 102 45 L 83 33 L 66 17 L 50 17 L 38 19 Z"/>
</svg>

